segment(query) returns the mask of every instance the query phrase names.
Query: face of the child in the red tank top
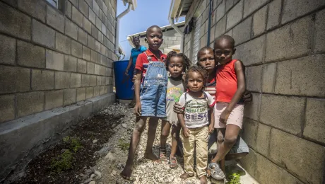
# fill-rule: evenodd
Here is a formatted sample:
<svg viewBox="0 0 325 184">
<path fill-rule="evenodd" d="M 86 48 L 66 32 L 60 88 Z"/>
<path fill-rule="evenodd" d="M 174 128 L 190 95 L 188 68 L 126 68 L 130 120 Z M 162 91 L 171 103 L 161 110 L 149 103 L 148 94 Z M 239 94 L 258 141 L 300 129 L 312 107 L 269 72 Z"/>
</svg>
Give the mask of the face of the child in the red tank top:
<svg viewBox="0 0 325 184">
<path fill-rule="evenodd" d="M 230 62 L 235 51 L 234 45 L 232 45 L 228 40 L 218 40 L 214 43 L 215 59 L 220 64 Z"/>
</svg>

